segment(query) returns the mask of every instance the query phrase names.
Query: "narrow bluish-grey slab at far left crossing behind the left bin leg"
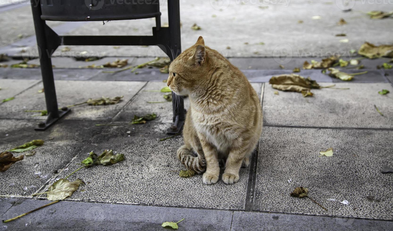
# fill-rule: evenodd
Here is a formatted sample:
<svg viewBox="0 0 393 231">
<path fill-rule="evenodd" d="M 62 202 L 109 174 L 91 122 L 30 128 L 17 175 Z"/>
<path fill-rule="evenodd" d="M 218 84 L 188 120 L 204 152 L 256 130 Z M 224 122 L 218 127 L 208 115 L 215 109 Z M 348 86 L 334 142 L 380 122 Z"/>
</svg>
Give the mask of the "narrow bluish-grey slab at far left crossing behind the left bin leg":
<svg viewBox="0 0 393 231">
<path fill-rule="evenodd" d="M 53 68 L 53 77 L 61 80 L 87 80 L 101 69 Z M 1 68 L 0 79 L 42 79 L 40 68 Z"/>
</svg>

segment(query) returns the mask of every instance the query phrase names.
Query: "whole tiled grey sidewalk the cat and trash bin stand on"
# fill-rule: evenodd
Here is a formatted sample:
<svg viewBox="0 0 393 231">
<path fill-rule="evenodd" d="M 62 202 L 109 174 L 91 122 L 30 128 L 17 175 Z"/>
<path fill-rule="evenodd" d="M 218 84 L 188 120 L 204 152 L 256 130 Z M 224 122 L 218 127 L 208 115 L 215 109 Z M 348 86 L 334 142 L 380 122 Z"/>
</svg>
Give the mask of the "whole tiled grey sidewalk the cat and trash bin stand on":
<svg viewBox="0 0 393 231">
<path fill-rule="evenodd" d="M 233 63 L 244 68 L 243 61 Z M 70 66 L 79 63 L 68 62 Z M 273 58 L 253 62 L 255 68 L 258 63 L 274 63 Z M 109 219 L 116 221 L 117 229 L 154 230 L 162 229 L 164 221 L 186 218 L 179 223 L 180 229 L 390 230 L 393 175 L 380 170 L 384 165 L 393 166 L 393 110 L 392 100 L 378 91 L 393 92 L 389 80 L 393 73 L 376 69 L 375 61 L 362 62 L 369 66 L 369 73 L 351 82 L 335 83 L 349 90 L 323 88 L 306 98 L 294 92 L 275 95 L 266 83 L 272 75 L 291 70 L 243 69 L 262 99 L 263 134 L 250 167 L 241 169 L 239 182 L 225 185 L 219 181 L 212 186 L 204 185 L 201 175 L 180 178 L 174 171 L 184 169 L 175 154 L 183 143 L 181 136 L 158 141 L 167 137 L 171 103 L 148 104 L 162 101 L 163 93 L 144 90 L 166 86 L 162 82 L 166 76 L 146 74 L 150 81 L 141 81 L 129 71 L 116 77 L 100 69 L 56 68 L 59 106 L 103 94 L 124 95 L 124 100 L 117 105 L 75 107 L 50 129 L 37 132 L 33 128 L 44 117 L 24 110 L 45 108 L 44 95 L 38 93 L 42 88 L 39 69 L 1 68 L 0 98 L 15 99 L 0 104 L 0 148 L 45 140 L 34 156 L 26 156 L 2 172 L 2 219 L 48 203 L 44 195 L 38 196 L 39 200 L 29 195 L 43 192 L 55 179 L 77 169 L 88 152 L 113 149 L 125 154 L 125 161 L 115 165 L 75 173 L 72 178 L 88 184 L 64 202 L 3 228 L 62 229 L 75 223 L 69 229 L 79 229 L 76 224 L 82 223 L 105 230 L 110 228 Z M 144 71 L 159 73 L 155 68 L 141 69 Z M 301 70 L 299 74 L 316 79 L 322 86 L 337 82 L 320 70 Z M 111 81 L 107 81 L 108 76 L 112 76 Z M 123 81 L 125 78 L 128 81 Z M 152 112 L 158 118 L 144 125 L 95 126 L 120 124 L 130 121 L 134 114 Z M 329 147 L 334 148 L 333 156 L 318 157 L 319 151 Z M 308 187 L 310 197 L 328 211 L 307 198 L 290 197 L 298 186 Z M 367 199 L 369 195 L 375 200 Z M 341 203 L 344 200 L 349 204 Z M 62 222 L 57 223 L 57 219 Z"/>
</svg>

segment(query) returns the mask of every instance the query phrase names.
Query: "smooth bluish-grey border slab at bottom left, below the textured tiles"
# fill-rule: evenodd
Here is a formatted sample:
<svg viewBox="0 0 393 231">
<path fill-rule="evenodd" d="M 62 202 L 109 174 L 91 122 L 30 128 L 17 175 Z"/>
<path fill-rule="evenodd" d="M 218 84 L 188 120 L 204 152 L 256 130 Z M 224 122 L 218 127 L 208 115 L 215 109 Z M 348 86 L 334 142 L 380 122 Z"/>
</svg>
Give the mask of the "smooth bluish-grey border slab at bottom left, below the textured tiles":
<svg viewBox="0 0 393 231">
<path fill-rule="evenodd" d="M 48 203 L 47 200 L 20 200 L 1 219 L 22 214 Z M 18 202 L 19 203 L 19 202 Z M 0 214 L 1 215 L 1 214 Z M 16 215 L 17 216 L 17 215 Z M 116 205 L 62 201 L 6 224 L 7 230 L 169 230 L 162 222 L 178 222 L 180 230 L 230 230 L 232 212 L 207 209 L 184 209 L 138 205 Z M 53 222 L 57 220 L 57 222 Z M 108 224 L 110 220 L 110 224 Z M 27 225 L 26 225 L 27 224 Z M 1 227 L 0 227 L 1 229 Z"/>
</svg>

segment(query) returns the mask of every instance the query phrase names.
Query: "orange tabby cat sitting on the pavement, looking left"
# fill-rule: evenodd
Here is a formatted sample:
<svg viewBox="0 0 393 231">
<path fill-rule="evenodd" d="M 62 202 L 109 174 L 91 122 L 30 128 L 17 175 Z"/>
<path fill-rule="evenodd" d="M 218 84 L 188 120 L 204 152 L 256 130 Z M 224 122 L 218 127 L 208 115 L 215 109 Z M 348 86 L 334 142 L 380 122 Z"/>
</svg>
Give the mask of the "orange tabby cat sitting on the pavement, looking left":
<svg viewBox="0 0 393 231">
<path fill-rule="evenodd" d="M 261 104 L 246 77 L 199 37 L 171 63 L 167 84 L 177 95 L 189 95 L 191 104 L 180 161 L 198 173 L 206 170 L 203 182 L 210 185 L 219 179 L 219 159 L 226 159 L 222 181 L 239 181 L 262 132 Z"/>
</svg>

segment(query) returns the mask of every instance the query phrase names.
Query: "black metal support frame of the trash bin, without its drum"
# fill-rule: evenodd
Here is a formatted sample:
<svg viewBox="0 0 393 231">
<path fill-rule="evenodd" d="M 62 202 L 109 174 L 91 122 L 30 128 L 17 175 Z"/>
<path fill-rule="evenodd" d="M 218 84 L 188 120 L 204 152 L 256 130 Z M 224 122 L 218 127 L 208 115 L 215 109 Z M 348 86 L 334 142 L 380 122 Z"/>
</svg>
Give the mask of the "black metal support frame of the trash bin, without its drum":
<svg viewBox="0 0 393 231">
<path fill-rule="evenodd" d="M 156 27 L 153 27 L 152 36 L 59 36 L 53 31 L 42 18 L 40 0 L 31 0 L 35 34 L 39 48 L 42 83 L 45 89 L 45 101 L 48 117 L 45 122 L 39 124 L 35 130 L 46 130 L 53 123 L 70 112 L 70 109 L 59 110 L 53 78 L 51 55 L 61 45 L 107 45 L 107 46 L 131 46 L 147 45 L 159 46 L 173 61 L 181 52 L 180 42 L 180 7 L 179 0 L 168 1 L 169 27 L 161 27 L 160 16 L 155 15 Z M 100 19 L 101 20 L 101 19 Z M 183 99 L 177 105 L 173 105 L 173 123 L 168 134 L 179 133 L 184 123 Z M 176 112 L 175 112 L 176 108 Z M 180 113 L 178 113 L 180 112 Z"/>
</svg>

